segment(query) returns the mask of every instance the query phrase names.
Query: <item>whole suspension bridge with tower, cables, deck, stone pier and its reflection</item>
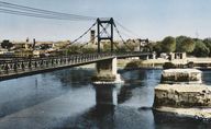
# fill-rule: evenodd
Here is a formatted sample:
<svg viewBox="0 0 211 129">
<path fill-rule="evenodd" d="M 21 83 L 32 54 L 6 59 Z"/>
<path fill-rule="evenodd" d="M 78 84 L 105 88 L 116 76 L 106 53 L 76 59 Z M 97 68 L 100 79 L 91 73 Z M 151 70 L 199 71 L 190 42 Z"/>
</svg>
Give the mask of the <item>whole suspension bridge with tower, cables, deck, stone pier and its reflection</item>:
<svg viewBox="0 0 211 129">
<path fill-rule="evenodd" d="M 63 55 L 44 58 L 7 58 L 0 60 L 0 81 L 27 77 L 32 74 L 52 72 L 54 70 L 66 69 L 71 67 L 78 67 L 82 64 L 96 63 L 97 74 L 93 75 L 95 87 L 96 87 L 96 101 L 97 104 L 116 104 L 116 90 L 115 86 L 110 84 L 122 82 L 120 74 L 118 73 L 116 59 L 118 58 L 130 58 L 138 57 L 142 59 L 148 59 L 149 56 L 155 57 L 154 54 L 134 51 L 130 44 L 127 44 L 119 26 L 127 33 L 132 34 L 132 31 L 116 22 L 113 17 L 95 17 L 86 15 L 76 15 L 69 13 L 62 13 L 55 11 L 48 11 L 43 9 L 36 9 L 15 3 L 9 3 L 0 1 L 0 13 L 21 15 L 36 19 L 48 19 L 48 20 L 63 20 L 63 21 L 93 21 L 93 24 L 85 31 L 78 38 L 70 42 L 67 46 L 79 45 L 79 40 L 84 38 L 90 31 L 97 27 L 97 50 L 93 54 L 75 54 L 75 55 Z M 121 39 L 122 45 L 126 47 L 122 51 L 119 47 L 120 44 L 114 44 L 114 33 Z M 109 40 L 110 51 L 103 51 L 103 40 Z M 138 39 L 141 42 L 148 43 L 148 39 Z M 80 44 L 80 49 L 86 47 L 90 42 Z M 34 44 L 35 45 L 35 39 Z M 141 46 L 140 46 L 141 47 Z M 109 78 L 109 79 L 108 79 Z M 98 83 L 100 82 L 100 83 Z M 107 86 L 99 86 L 107 83 Z M 97 86 L 96 86 L 97 84 Z M 108 85 L 109 84 L 109 85 Z"/>
</svg>

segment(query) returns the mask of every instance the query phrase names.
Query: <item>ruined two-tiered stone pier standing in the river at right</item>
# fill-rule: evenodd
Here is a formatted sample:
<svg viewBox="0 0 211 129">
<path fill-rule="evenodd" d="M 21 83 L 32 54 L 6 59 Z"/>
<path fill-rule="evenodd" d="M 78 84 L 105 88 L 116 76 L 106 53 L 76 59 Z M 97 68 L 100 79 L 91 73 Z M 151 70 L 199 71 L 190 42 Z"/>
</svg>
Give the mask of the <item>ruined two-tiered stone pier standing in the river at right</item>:
<svg viewBox="0 0 211 129">
<path fill-rule="evenodd" d="M 201 71 L 168 69 L 155 87 L 154 110 L 175 115 L 211 118 L 211 86 L 202 84 Z"/>
</svg>

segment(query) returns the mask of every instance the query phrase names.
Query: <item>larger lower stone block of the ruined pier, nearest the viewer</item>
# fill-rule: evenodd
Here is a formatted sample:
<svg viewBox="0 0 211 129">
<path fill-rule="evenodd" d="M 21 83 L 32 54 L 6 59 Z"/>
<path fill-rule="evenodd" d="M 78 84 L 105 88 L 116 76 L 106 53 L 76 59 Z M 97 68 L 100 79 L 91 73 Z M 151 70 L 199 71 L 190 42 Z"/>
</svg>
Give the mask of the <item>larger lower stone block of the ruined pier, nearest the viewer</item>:
<svg viewBox="0 0 211 129">
<path fill-rule="evenodd" d="M 203 84 L 159 84 L 155 87 L 153 106 L 211 107 L 211 87 Z"/>
</svg>

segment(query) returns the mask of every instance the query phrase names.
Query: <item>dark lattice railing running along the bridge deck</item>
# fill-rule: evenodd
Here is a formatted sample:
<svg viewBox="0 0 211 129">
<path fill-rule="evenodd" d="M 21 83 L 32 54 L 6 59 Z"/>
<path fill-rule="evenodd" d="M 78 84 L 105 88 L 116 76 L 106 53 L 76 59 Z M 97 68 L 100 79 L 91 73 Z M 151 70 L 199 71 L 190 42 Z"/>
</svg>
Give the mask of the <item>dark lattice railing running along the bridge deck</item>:
<svg viewBox="0 0 211 129">
<path fill-rule="evenodd" d="M 142 52 L 80 54 L 44 58 L 12 58 L 0 62 L 0 77 L 24 72 L 79 66 L 113 57 L 138 57 Z"/>
</svg>

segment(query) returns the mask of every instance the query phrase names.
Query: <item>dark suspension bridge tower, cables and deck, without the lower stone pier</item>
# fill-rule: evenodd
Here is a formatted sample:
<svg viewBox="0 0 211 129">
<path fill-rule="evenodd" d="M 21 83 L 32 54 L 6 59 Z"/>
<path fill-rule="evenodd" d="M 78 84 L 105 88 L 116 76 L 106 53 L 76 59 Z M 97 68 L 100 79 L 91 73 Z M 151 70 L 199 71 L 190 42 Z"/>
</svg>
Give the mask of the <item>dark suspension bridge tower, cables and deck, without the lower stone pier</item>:
<svg viewBox="0 0 211 129">
<path fill-rule="evenodd" d="M 0 1 L 0 13 L 8 13 L 12 15 L 22 15 L 30 17 L 40 17 L 40 19 L 51 19 L 51 20 L 93 21 L 93 24 L 86 32 L 84 32 L 78 38 L 70 42 L 68 44 L 68 47 L 73 46 L 74 44 L 78 44 L 78 40 L 80 40 L 95 27 L 97 27 L 97 35 L 95 37 L 97 38 L 97 46 L 98 46 L 97 51 L 95 54 L 66 55 L 66 56 L 45 57 L 45 58 L 32 58 L 32 57 L 21 59 L 9 58 L 8 60 L 3 60 L 0 62 L 0 80 L 8 80 L 88 63 L 97 63 L 97 66 L 102 67 L 97 68 L 98 72 L 100 73 L 100 71 L 103 71 L 102 69 L 113 71 L 113 68 L 116 67 L 116 62 L 113 63 L 114 58 L 129 58 L 129 57 L 146 58 L 152 55 L 149 52 L 142 52 L 142 51 L 134 52 L 131 46 L 123 39 L 118 25 L 127 32 L 131 31 L 124 27 L 119 22 L 115 22 L 113 17 L 109 19 L 93 17 L 69 13 L 60 13 L 2 1 Z M 119 50 L 119 46 L 114 44 L 114 33 L 118 34 L 122 44 L 127 48 L 126 51 L 121 52 L 121 50 Z M 103 51 L 101 48 L 102 40 L 110 42 L 110 52 L 107 54 L 102 52 Z M 148 39 L 144 40 L 142 39 L 142 42 L 148 42 Z M 89 42 L 82 44 L 80 48 L 85 47 L 88 44 Z M 106 63 L 110 67 L 104 68 L 104 64 L 102 63 Z"/>
</svg>

